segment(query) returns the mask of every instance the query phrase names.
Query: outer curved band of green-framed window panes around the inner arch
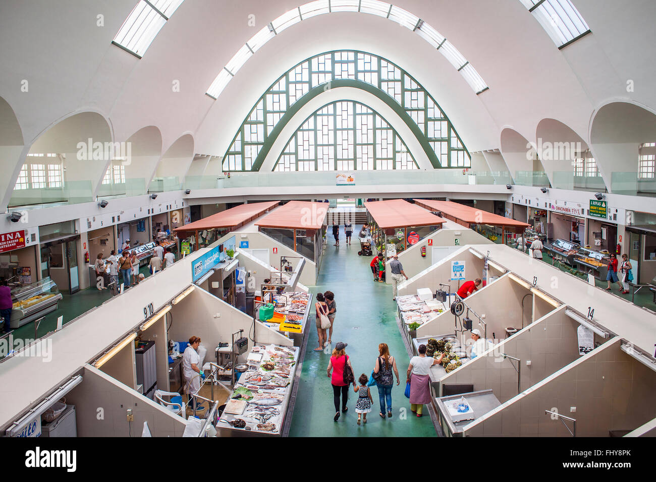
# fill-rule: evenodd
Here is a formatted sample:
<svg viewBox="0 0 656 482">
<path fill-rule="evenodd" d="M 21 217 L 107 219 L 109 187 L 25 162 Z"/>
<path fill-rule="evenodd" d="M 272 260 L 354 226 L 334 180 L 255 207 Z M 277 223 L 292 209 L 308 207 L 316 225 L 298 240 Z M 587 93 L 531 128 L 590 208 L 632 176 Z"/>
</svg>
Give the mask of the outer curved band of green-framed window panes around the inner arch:
<svg viewBox="0 0 656 482">
<path fill-rule="evenodd" d="M 409 73 L 389 60 L 356 50 L 314 56 L 287 71 L 255 104 L 226 151 L 223 170 L 258 171 L 277 135 L 279 121 L 295 113 L 295 104 L 328 83 L 352 81 L 375 87 L 386 102 L 401 109 L 436 168 L 470 167 L 471 156 L 434 98 Z M 410 126 L 409 126 L 410 127 Z M 279 129 L 278 129 L 279 131 Z M 263 151 L 264 148 L 264 151 Z"/>
</svg>

